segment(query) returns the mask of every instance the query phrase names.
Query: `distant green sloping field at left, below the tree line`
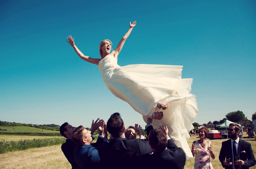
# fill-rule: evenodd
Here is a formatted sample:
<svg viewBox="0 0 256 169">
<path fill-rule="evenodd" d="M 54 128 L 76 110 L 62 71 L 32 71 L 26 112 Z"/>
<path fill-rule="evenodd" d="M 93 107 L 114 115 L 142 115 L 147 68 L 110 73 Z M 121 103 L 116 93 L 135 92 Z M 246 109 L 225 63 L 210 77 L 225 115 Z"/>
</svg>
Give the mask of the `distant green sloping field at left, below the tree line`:
<svg viewBox="0 0 256 169">
<path fill-rule="evenodd" d="M 6 129 L 6 130 L 0 130 L 0 132 L 30 132 L 30 133 L 48 133 L 48 132 L 54 132 L 59 133 L 59 131 L 53 131 L 53 130 L 46 130 L 36 127 L 27 127 L 27 126 L 0 126 L 0 129 Z"/>
</svg>

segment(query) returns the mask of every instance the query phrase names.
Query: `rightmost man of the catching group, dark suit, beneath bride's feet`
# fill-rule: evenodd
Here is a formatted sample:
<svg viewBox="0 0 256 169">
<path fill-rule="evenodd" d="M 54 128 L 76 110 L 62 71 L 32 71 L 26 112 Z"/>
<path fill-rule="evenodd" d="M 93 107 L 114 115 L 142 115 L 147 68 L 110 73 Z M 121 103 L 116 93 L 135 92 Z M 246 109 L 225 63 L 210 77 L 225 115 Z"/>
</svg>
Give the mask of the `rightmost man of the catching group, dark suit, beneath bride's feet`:
<svg viewBox="0 0 256 169">
<path fill-rule="evenodd" d="M 154 152 L 141 157 L 140 161 L 143 163 L 141 167 L 157 169 L 169 166 L 173 169 L 183 169 L 186 164 L 186 154 L 170 139 L 167 127 L 153 129 L 152 119 L 148 118 L 147 122 L 149 145 Z"/>
</svg>

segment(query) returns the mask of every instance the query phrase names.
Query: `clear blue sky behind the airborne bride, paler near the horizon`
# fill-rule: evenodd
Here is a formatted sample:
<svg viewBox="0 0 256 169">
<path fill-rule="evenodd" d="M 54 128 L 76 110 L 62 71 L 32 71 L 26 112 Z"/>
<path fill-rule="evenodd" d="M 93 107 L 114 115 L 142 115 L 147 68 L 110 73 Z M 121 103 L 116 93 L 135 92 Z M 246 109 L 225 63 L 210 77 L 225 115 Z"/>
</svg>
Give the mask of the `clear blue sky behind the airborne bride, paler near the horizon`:
<svg viewBox="0 0 256 169">
<path fill-rule="evenodd" d="M 87 56 L 115 48 L 137 21 L 118 64 L 183 65 L 193 78 L 199 124 L 232 111 L 256 111 L 255 0 L 0 0 L 0 120 L 90 127 L 119 112 L 126 127 L 142 115 L 114 97 L 97 65 L 66 42 L 72 35 Z"/>
</svg>

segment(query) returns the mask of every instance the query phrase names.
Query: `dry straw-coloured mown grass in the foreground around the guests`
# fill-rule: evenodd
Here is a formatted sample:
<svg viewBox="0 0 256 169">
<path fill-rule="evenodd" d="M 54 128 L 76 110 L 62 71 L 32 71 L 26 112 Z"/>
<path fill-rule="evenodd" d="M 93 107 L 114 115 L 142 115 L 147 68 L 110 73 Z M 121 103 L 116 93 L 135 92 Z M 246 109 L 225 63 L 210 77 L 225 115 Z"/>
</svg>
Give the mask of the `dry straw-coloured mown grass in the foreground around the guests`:
<svg viewBox="0 0 256 169">
<path fill-rule="evenodd" d="M 246 135 L 244 135 L 246 136 Z M 23 136 L 22 136 L 23 137 Z M 188 144 L 192 145 L 194 140 L 198 140 L 196 137 L 191 137 L 188 139 Z M 211 140 L 213 143 L 213 149 L 216 154 L 215 159 L 210 159 L 213 164 L 214 169 L 223 169 L 219 162 L 219 152 L 221 148 L 222 140 Z M 252 150 L 256 152 L 256 141 L 255 139 L 244 139 L 252 145 Z M 61 151 L 61 145 L 49 146 L 42 148 L 31 148 L 23 151 L 9 152 L 0 155 L 0 168 L 71 168 L 68 160 L 65 158 L 63 152 Z M 187 160 L 185 169 L 193 169 L 194 159 Z M 256 167 L 251 167 L 250 169 L 256 169 Z"/>
</svg>

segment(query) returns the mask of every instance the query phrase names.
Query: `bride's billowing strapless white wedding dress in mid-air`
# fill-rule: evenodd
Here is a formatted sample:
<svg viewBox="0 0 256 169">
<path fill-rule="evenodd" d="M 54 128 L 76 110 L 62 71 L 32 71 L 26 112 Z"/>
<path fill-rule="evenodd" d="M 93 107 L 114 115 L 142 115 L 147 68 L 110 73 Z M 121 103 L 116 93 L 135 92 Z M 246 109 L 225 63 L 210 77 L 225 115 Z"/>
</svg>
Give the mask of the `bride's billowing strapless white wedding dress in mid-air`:
<svg viewBox="0 0 256 169">
<path fill-rule="evenodd" d="M 187 139 L 198 114 L 196 97 L 191 91 L 192 78 L 181 79 L 182 66 L 136 64 L 119 66 L 108 55 L 98 63 L 107 88 L 143 115 L 146 122 L 154 111 L 164 112 L 162 120 L 153 120 L 153 127 L 167 126 L 170 138 L 181 147 L 187 159 L 193 158 Z M 159 110 L 158 101 L 170 104 Z"/>
</svg>

